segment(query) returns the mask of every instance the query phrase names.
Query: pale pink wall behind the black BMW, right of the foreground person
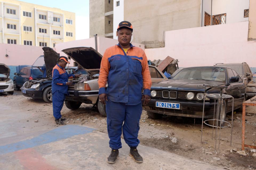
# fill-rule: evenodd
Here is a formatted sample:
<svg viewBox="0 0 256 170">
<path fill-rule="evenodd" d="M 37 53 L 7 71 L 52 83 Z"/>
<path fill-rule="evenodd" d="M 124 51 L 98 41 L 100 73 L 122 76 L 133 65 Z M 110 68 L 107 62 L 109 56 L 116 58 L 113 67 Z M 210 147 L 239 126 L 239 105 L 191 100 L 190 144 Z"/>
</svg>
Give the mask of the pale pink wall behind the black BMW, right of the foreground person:
<svg viewBox="0 0 256 170">
<path fill-rule="evenodd" d="M 151 61 L 167 56 L 179 67 L 246 62 L 256 67 L 256 42 L 247 41 L 248 21 L 165 32 L 165 47 L 145 49 Z"/>
</svg>

